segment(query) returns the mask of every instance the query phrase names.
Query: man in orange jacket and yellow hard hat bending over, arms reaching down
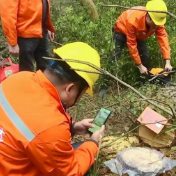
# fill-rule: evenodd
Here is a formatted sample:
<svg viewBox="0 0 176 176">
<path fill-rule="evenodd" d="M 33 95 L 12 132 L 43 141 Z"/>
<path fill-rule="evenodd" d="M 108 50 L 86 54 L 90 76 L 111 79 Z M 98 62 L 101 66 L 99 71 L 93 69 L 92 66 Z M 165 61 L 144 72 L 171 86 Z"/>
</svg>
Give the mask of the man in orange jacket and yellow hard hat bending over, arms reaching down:
<svg viewBox="0 0 176 176">
<path fill-rule="evenodd" d="M 147 10 L 167 12 L 167 7 L 163 0 L 151 0 L 146 7 L 137 6 L 124 11 L 113 28 L 115 57 L 116 59 L 120 57 L 122 49 L 127 44 L 130 56 L 140 73 L 148 74 L 150 56 L 144 39 L 155 34 L 165 60 L 165 69 L 172 70 L 168 36 L 164 27 L 167 14 L 147 12 Z M 105 97 L 106 91 L 107 86 L 102 86 L 100 97 Z"/>
</svg>

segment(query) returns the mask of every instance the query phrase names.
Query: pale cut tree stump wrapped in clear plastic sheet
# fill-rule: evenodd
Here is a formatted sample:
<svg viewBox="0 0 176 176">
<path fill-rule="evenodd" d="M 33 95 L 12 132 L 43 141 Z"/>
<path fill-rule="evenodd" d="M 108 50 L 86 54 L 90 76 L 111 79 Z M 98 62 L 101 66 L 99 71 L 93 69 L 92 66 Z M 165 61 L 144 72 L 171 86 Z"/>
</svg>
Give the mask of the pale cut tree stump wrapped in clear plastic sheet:
<svg viewBox="0 0 176 176">
<path fill-rule="evenodd" d="M 164 157 L 164 154 L 150 148 L 130 147 L 118 153 L 116 159 L 105 162 L 111 172 L 129 176 L 155 176 L 172 170 L 176 160 Z"/>
</svg>

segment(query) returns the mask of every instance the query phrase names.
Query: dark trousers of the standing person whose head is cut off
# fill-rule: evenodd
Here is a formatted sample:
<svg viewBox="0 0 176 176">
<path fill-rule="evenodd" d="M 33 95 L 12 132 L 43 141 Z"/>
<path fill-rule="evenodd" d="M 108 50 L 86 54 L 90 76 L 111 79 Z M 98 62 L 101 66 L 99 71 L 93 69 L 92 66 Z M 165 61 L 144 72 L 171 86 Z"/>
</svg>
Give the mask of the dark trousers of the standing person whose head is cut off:
<svg viewBox="0 0 176 176">
<path fill-rule="evenodd" d="M 43 38 L 22 38 L 18 37 L 19 53 L 19 70 L 34 71 L 34 62 L 37 70 L 44 70 L 49 61 L 42 57 L 49 57 L 49 38 L 48 31 L 43 30 Z"/>
</svg>

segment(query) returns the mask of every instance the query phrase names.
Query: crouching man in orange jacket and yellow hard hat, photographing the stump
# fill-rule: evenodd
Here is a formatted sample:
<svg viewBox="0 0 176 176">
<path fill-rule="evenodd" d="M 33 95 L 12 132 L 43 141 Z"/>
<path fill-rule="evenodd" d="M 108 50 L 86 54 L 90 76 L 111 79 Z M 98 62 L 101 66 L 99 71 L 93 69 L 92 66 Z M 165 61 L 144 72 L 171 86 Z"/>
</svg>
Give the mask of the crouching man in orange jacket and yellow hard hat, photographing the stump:
<svg viewBox="0 0 176 176">
<path fill-rule="evenodd" d="M 73 123 L 66 109 L 85 91 L 92 95 L 98 75 L 75 69 L 96 71 L 80 61 L 100 68 L 99 54 L 82 42 L 54 53 L 58 60 L 44 72 L 19 72 L 0 84 L 0 176 L 83 176 L 94 162 L 105 127 L 74 149 L 71 138 L 93 120 Z"/>
</svg>

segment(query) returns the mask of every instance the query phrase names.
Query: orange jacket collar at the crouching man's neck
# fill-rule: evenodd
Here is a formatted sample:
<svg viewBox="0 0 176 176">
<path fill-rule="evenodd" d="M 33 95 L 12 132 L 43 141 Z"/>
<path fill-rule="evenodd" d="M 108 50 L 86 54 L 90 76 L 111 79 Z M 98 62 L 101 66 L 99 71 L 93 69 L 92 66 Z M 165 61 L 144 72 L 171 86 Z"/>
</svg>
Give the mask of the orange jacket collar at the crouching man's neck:
<svg viewBox="0 0 176 176">
<path fill-rule="evenodd" d="M 43 87 L 58 102 L 59 111 L 66 114 L 65 112 L 66 109 L 62 104 L 61 99 L 59 97 L 59 93 L 57 92 L 53 84 L 47 79 L 47 77 L 44 75 L 44 73 L 41 70 L 36 72 L 36 76 L 40 86 Z"/>
</svg>

